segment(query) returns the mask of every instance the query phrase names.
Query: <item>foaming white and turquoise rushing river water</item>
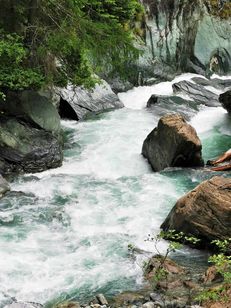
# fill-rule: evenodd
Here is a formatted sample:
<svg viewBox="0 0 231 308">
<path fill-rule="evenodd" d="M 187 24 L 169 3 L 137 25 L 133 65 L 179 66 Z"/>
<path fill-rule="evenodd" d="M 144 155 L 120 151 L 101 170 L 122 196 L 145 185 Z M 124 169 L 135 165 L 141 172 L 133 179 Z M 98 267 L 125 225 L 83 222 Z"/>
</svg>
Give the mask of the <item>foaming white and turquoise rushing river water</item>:
<svg viewBox="0 0 231 308">
<path fill-rule="evenodd" d="M 124 109 L 63 121 L 63 166 L 12 183 L 16 193 L 0 202 L 0 307 L 10 297 L 52 303 L 142 284 L 143 256 L 131 258 L 128 244 L 154 252 L 147 235 L 158 233 L 181 195 L 212 176 L 202 169 L 152 172 L 140 154 L 142 143 L 169 111 L 145 109 L 153 93 L 171 94 L 171 83 L 121 93 Z M 202 140 L 205 160 L 230 147 L 224 109 L 184 113 Z M 192 263 L 202 255 L 190 249 L 181 254 Z"/>
</svg>

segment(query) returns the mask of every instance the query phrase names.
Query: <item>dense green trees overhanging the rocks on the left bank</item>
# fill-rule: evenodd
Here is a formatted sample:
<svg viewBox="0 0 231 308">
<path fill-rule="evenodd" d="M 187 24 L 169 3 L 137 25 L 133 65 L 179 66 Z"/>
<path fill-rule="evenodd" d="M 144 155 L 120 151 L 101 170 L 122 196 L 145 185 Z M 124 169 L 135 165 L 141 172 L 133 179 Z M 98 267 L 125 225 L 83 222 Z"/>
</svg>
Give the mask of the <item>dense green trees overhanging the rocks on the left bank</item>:
<svg viewBox="0 0 231 308">
<path fill-rule="evenodd" d="M 138 56 L 138 0 L 0 0 L 0 92 L 91 86 L 94 73 L 126 73 Z"/>
</svg>

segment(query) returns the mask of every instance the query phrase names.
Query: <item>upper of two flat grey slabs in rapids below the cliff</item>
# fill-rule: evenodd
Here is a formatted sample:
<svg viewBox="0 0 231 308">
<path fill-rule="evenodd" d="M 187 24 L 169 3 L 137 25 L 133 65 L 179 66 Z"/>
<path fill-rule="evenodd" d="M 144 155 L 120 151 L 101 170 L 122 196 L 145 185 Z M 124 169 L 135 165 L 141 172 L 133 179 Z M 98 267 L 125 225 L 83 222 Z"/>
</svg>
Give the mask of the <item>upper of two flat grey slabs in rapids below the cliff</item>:
<svg viewBox="0 0 231 308">
<path fill-rule="evenodd" d="M 218 101 L 218 95 L 205 89 L 199 84 L 192 83 L 187 80 L 174 83 L 172 85 L 174 93 L 183 93 L 188 95 L 191 99 L 195 100 L 199 104 L 203 104 L 209 107 L 218 107 L 220 103 Z"/>
</svg>

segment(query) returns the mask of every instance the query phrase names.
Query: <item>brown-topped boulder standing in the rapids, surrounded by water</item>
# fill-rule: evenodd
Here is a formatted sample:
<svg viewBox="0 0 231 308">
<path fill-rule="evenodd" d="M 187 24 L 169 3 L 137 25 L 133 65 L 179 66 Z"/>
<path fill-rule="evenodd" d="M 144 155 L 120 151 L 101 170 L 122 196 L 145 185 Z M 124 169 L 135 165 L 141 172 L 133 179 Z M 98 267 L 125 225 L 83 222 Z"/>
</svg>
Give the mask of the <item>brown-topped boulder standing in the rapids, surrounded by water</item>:
<svg viewBox="0 0 231 308">
<path fill-rule="evenodd" d="M 142 154 L 154 171 L 167 167 L 199 167 L 202 145 L 195 129 L 178 114 L 163 116 L 145 139 Z"/>
</svg>

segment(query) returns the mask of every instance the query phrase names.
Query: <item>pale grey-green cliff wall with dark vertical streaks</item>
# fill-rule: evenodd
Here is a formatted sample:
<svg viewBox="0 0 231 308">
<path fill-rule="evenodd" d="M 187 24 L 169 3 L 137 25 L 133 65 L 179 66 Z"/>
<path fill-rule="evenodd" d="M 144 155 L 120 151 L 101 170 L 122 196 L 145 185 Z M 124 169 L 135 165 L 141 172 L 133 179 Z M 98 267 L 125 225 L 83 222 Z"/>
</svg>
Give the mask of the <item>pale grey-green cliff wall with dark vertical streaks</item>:
<svg viewBox="0 0 231 308">
<path fill-rule="evenodd" d="M 215 1 L 216 2 L 216 1 Z M 175 73 L 210 76 L 231 71 L 231 2 L 142 0 L 145 42 L 138 68 L 143 78 Z"/>
</svg>

